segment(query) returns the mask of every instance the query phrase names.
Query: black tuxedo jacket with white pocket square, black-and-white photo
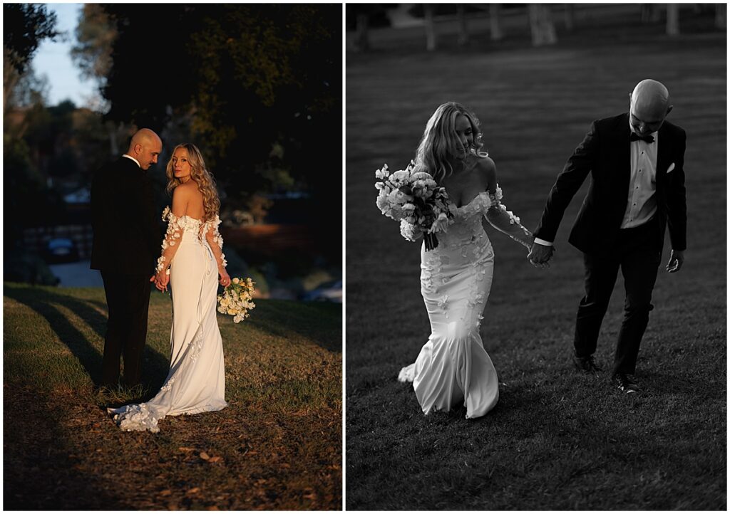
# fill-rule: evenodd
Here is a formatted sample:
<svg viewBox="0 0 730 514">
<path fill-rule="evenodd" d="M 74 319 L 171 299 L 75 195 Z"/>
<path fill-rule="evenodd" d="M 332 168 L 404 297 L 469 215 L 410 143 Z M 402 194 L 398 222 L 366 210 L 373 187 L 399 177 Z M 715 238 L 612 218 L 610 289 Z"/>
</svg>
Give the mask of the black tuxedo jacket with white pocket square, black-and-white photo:
<svg viewBox="0 0 730 514">
<path fill-rule="evenodd" d="M 596 120 L 583 142 L 558 175 L 542 212 L 535 237 L 555 241 L 566 207 L 591 174 L 591 184 L 580 207 L 568 241 L 581 252 L 596 253 L 612 246 L 629 201 L 631 147 L 629 113 Z M 666 120 L 658 133 L 656 203 L 658 219 L 654 234 L 658 250 L 664 245 L 669 225 L 672 249 L 687 247 L 687 204 L 684 154 L 686 134 Z M 673 166 L 672 166 L 673 165 Z"/>
</svg>

